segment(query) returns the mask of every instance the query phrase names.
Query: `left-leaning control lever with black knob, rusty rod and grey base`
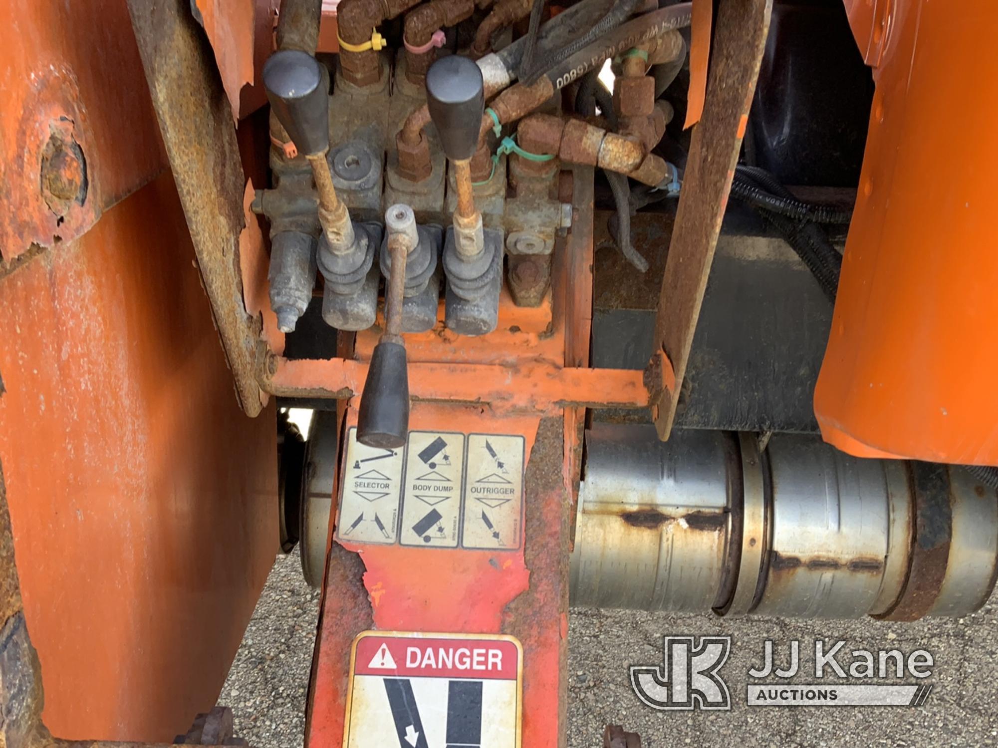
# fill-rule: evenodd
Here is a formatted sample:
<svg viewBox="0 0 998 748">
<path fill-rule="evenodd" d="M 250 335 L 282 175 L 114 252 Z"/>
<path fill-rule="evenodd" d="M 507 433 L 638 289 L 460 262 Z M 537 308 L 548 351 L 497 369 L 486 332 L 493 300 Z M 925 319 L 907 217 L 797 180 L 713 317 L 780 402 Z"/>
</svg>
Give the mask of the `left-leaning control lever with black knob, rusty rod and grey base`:
<svg viewBox="0 0 998 748">
<path fill-rule="evenodd" d="M 329 152 L 328 79 L 311 55 L 280 50 L 263 66 L 270 108 L 311 167 L 318 193 L 318 269 L 325 278 L 322 318 L 341 330 L 374 323 L 379 269 L 374 262 L 381 227 L 354 223 L 332 183 Z"/>
</svg>

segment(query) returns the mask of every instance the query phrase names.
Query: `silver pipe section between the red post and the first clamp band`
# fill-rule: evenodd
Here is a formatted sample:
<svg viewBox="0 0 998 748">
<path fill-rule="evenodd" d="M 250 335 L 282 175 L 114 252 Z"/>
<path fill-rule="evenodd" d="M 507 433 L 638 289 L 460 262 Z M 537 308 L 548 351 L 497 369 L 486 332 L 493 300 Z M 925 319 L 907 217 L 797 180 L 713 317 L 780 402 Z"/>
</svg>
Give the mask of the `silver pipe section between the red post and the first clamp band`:
<svg viewBox="0 0 998 748">
<path fill-rule="evenodd" d="M 734 435 L 684 431 L 664 449 L 650 426 L 596 425 L 572 558 L 572 602 L 702 611 L 728 562 L 741 486 Z M 722 477 L 718 480 L 719 476 Z M 654 549 L 654 553 L 649 553 Z"/>
</svg>

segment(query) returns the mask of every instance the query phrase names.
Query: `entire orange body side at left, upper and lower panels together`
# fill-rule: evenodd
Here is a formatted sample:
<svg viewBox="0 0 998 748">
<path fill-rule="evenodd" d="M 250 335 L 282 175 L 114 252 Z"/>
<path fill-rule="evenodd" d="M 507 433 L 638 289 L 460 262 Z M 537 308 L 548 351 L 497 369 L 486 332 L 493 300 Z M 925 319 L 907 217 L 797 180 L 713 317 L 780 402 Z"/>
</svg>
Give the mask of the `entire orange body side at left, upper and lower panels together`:
<svg viewBox="0 0 998 748">
<path fill-rule="evenodd" d="M 125 4 L 7 10 L 0 470 L 43 717 L 168 741 L 214 705 L 276 552 L 274 410 L 237 403 Z M 89 190 L 59 221 L 40 149 L 67 122 Z"/>
</svg>

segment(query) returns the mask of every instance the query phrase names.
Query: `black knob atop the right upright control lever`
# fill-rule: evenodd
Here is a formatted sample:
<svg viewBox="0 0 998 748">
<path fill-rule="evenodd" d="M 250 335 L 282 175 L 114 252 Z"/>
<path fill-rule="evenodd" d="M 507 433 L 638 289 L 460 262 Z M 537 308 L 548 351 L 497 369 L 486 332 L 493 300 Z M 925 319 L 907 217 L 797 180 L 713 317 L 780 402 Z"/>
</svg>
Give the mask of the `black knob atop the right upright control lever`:
<svg viewBox="0 0 998 748">
<path fill-rule="evenodd" d="M 485 111 L 482 71 L 467 57 L 441 57 L 426 71 L 426 104 L 451 161 L 475 155 Z"/>
</svg>

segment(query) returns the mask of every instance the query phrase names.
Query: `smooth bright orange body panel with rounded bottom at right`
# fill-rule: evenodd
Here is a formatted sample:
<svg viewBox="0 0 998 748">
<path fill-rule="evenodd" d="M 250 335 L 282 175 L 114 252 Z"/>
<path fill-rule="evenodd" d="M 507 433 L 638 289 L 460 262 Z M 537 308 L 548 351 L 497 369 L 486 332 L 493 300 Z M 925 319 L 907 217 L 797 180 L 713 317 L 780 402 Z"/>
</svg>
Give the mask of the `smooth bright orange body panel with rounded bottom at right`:
<svg viewBox="0 0 998 748">
<path fill-rule="evenodd" d="M 860 457 L 998 465 L 998 13 L 846 8 L 876 93 L 815 414 Z"/>
</svg>

